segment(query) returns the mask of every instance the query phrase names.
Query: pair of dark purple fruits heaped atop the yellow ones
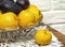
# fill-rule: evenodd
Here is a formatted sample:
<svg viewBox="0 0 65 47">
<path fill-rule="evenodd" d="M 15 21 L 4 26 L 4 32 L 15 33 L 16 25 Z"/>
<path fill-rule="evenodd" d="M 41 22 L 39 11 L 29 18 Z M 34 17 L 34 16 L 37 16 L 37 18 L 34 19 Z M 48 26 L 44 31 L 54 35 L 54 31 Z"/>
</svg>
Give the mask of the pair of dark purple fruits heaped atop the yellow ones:
<svg viewBox="0 0 65 47">
<path fill-rule="evenodd" d="M 22 10 L 26 10 L 29 5 L 28 0 L 0 0 L 0 10 L 5 12 L 14 12 L 18 14 Z"/>
</svg>

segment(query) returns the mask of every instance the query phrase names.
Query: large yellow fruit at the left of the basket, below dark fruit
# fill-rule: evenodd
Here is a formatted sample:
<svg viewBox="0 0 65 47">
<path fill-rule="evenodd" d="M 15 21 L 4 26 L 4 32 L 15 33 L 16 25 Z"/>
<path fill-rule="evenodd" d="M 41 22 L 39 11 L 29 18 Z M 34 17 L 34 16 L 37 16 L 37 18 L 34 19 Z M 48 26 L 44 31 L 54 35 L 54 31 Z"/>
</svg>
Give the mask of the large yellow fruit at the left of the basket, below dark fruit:
<svg viewBox="0 0 65 47">
<path fill-rule="evenodd" d="M 17 17 L 14 13 L 9 12 L 0 16 L 0 29 L 13 30 L 17 27 Z"/>
</svg>

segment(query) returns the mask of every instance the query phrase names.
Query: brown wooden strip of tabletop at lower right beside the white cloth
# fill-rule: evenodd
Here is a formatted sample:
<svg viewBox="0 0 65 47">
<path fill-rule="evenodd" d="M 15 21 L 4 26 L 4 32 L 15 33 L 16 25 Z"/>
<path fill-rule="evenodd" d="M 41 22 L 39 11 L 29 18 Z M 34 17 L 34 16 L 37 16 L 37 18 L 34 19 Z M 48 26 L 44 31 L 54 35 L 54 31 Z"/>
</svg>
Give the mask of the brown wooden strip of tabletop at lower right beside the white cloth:
<svg viewBox="0 0 65 47">
<path fill-rule="evenodd" d="M 51 27 L 50 27 L 50 30 L 57 37 L 57 40 L 63 44 L 62 47 L 65 47 L 65 35 L 62 34 L 61 32 L 56 31 L 55 29 L 51 28 Z"/>
</svg>

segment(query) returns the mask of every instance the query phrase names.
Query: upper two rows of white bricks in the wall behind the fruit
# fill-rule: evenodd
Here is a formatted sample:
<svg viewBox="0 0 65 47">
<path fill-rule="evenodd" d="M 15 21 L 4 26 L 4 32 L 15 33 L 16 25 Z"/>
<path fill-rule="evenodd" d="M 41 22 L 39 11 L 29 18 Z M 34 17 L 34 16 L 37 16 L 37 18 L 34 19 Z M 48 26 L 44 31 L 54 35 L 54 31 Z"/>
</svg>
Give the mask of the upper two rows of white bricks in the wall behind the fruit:
<svg viewBox="0 0 65 47">
<path fill-rule="evenodd" d="M 65 0 L 29 0 L 36 4 L 43 14 L 43 22 L 64 22 L 65 19 Z"/>
</svg>

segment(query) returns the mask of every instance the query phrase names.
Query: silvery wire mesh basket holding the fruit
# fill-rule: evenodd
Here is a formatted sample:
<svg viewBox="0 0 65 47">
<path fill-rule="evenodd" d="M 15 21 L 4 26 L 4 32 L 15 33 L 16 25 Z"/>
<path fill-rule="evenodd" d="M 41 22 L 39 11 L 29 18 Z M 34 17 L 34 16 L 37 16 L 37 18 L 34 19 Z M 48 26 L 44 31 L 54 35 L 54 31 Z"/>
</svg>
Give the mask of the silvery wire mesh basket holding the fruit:
<svg viewBox="0 0 65 47">
<path fill-rule="evenodd" d="M 25 29 L 17 27 L 15 30 L 9 30 L 9 28 L 0 30 L 0 42 L 14 42 L 23 38 L 32 38 L 36 30 L 35 27 L 39 26 L 40 22 L 41 21 L 38 21 L 35 26 Z"/>
</svg>

